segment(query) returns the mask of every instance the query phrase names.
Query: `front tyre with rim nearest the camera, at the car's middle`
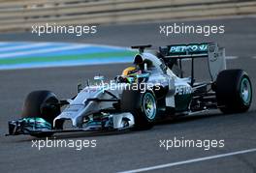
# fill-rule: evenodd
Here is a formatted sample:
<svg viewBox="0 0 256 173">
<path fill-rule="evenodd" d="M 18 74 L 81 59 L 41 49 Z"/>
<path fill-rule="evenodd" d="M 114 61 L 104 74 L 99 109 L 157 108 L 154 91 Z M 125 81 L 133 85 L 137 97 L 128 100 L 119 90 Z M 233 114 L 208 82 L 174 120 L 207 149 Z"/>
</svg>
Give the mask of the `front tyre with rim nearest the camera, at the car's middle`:
<svg viewBox="0 0 256 173">
<path fill-rule="evenodd" d="M 135 130 L 149 130 L 157 117 L 157 101 L 152 91 L 124 90 L 120 101 L 121 111 L 131 112 Z"/>
</svg>

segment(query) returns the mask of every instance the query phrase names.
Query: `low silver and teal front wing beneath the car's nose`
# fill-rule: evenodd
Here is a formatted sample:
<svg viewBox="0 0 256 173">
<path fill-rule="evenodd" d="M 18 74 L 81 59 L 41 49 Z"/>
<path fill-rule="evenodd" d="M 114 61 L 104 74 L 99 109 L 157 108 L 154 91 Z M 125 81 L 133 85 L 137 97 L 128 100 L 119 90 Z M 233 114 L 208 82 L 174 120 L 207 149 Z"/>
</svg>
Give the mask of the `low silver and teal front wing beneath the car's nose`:
<svg viewBox="0 0 256 173">
<path fill-rule="evenodd" d="M 133 128 L 134 124 L 134 117 L 129 112 L 111 114 L 105 119 L 89 121 L 82 128 L 72 127 L 71 129 L 63 130 L 55 130 L 43 118 L 21 118 L 8 123 L 9 133 L 6 135 L 29 134 L 47 136 L 57 132 L 126 130 Z"/>
</svg>

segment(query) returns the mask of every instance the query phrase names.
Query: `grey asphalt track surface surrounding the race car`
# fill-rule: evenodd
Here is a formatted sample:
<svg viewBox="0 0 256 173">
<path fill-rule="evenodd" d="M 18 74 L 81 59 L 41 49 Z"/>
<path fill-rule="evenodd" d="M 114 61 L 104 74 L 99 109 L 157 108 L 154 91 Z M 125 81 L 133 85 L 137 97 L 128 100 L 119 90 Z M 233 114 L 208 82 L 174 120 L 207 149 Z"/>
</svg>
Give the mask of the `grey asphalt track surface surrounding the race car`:
<svg viewBox="0 0 256 173">
<path fill-rule="evenodd" d="M 191 21 L 190 23 L 197 23 Z M 135 24 L 104 26 L 98 37 L 71 38 L 63 41 L 85 43 L 110 43 L 130 45 L 133 43 L 189 43 L 211 40 L 227 47 L 227 54 L 237 56 L 227 61 L 229 69 L 240 68 L 250 75 L 253 89 L 256 86 L 256 18 L 217 19 L 199 23 L 225 24 L 226 33 L 210 38 L 193 36 L 163 37 L 158 34 L 158 24 Z M 157 30 L 157 31 L 156 31 Z M 57 36 L 43 38 L 56 41 Z M 1 35 L 7 40 L 34 40 L 30 34 Z M 37 39 L 38 40 L 38 39 Z M 58 41 L 61 41 L 59 39 Z M 204 62 L 199 62 L 198 78 L 206 78 Z M 202 65 L 202 66 L 201 66 Z M 22 101 L 32 90 L 48 89 L 59 98 L 69 98 L 76 93 L 77 83 L 104 73 L 108 78 L 120 73 L 127 64 L 82 66 L 71 68 L 48 68 L 0 72 L 0 172 L 118 172 L 188 159 L 201 159 L 256 148 L 256 102 L 253 100 L 247 113 L 223 115 L 212 111 L 193 117 L 183 117 L 156 125 L 152 130 L 109 133 L 57 134 L 56 139 L 97 140 L 97 147 L 43 148 L 31 147 L 35 138 L 9 136 L 7 122 L 18 118 Z M 224 140 L 224 148 L 171 148 L 159 147 L 159 140 L 184 137 L 185 139 Z M 203 159 L 152 170 L 153 172 L 256 172 L 256 152 L 231 155 L 224 158 Z"/>
</svg>

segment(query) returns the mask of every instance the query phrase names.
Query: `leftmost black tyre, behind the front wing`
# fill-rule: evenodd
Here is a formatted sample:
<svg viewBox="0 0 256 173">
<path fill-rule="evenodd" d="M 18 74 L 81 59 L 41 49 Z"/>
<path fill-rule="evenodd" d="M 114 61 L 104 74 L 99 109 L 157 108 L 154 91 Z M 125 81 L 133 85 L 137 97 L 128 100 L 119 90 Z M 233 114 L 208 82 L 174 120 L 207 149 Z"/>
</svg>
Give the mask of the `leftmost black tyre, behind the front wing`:
<svg viewBox="0 0 256 173">
<path fill-rule="evenodd" d="M 24 101 L 22 118 L 43 118 L 49 124 L 53 124 L 53 120 L 60 114 L 60 106 L 57 104 L 58 99 L 50 91 L 34 91 L 31 92 Z M 48 136 L 46 134 L 44 136 Z M 34 136 L 44 137 L 40 134 Z"/>
</svg>

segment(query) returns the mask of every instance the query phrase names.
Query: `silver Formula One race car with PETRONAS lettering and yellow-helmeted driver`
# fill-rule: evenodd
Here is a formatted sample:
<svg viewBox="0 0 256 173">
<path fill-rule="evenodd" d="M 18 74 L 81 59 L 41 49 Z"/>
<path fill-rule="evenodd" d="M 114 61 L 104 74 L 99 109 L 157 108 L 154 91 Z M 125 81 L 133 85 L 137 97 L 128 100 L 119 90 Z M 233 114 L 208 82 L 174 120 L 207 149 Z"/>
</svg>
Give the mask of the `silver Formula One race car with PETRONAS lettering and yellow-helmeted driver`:
<svg viewBox="0 0 256 173">
<path fill-rule="evenodd" d="M 144 51 L 147 47 L 150 45 L 132 46 L 139 49 L 134 67 L 108 83 L 103 76 L 95 76 L 95 83 L 88 82 L 84 88 L 79 85 L 72 99 L 58 100 L 50 91 L 30 93 L 21 118 L 9 122 L 7 135 L 42 137 L 70 131 L 147 130 L 167 117 L 210 109 L 223 113 L 249 109 L 249 76 L 242 70 L 226 70 L 225 49 L 217 43 L 173 44 L 160 46 L 159 51 Z M 209 82 L 195 79 L 197 58 L 207 60 Z M 184 59 L 191 60 L 189 77 L 183 77 Z M 174 72 L 175 68 L 179 72 Z"/>
</svg>

